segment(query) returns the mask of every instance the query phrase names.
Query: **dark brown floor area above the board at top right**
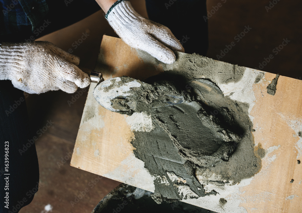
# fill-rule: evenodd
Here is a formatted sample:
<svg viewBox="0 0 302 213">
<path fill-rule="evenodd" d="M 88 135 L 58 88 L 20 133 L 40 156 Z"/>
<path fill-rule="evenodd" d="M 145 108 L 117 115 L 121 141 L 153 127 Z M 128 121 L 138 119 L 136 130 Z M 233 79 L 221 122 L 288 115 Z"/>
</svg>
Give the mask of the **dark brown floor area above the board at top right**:
<svg viewBox="0 0 302 213">
<path fill-rule="evenodd" d="M 220 0 L 208 1 L 208 11 Z M 271 2 L 278 2 L 271 1 Z M 270 73 L 301 79 L 302 49 L 302 3 L 280 0 L 271 9 L 270 1 L 229 1 L 209 19 L 209 51 L 207 56 L 217 59 L 225 45 L 234 41 L 245 26 L 252 29 L 234 46 L 223 59 L 225 62 L 250 68 L 259 68 L 259 63 L 270 54 L 274 58 L 262 69 Z M 213 8 L 212 8 L 213 9 Z M 277 55 L 273 49 L 288 38 L 290 42 Z"/>
</svg>

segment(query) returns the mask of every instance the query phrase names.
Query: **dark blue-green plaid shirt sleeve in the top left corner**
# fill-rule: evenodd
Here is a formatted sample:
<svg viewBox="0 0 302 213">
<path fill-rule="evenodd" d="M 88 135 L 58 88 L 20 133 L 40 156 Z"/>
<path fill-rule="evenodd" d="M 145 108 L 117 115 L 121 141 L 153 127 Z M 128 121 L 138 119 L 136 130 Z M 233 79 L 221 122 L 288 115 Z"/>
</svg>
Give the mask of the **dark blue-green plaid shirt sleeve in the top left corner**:
<svg viewBox="0 0 302 213">
<path fill-rule="evenodd" d="M 34 30 L 48 12 L 45 0 L 0 0 L 0 35 L 32 26 Z"/>
</svg>

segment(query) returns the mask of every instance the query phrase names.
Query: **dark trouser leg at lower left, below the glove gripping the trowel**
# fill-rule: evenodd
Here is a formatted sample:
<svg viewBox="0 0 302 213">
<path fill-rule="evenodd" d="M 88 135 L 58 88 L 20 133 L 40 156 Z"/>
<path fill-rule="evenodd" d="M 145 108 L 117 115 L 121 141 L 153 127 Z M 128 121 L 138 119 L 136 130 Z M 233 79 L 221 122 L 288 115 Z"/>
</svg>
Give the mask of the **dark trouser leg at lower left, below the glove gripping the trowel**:
<svg viewBox="0 0 302 213">
<path fill-rule="evenodd" d="M 22 99 L 23 98 L 23 99 Z M 23 91 L 11 81 L 0 82 L 0 212 L 18 212 L 37 192 L 39 166 L 35 144 L 28 145 L 29 119 Z M 7 141 L 7 143 L 5 143 Z M 7 145 L 7 146 L 6 146 Z M 5 149 L 6 148 L 6 149 Z M 24 151 L 25 150 L 25 151 Z M 5 154 L 7 158 L 5 159 Z M 5 165 L 5 161 L 8 165 Z M 8 169 L 5 171 L 5 167 Z M 9 174 L 9 175 L 6 175 Z M 8 180 L 8 187 L 5 188 Z M 8 190 L 5 190 L 8 189 Z M 6 194 L 8 192 L 8 194 Z M 8 195 L 8 203 L 5 196 Z M 5 208 L 7 206 L 8 208 Z"/>
</svg>

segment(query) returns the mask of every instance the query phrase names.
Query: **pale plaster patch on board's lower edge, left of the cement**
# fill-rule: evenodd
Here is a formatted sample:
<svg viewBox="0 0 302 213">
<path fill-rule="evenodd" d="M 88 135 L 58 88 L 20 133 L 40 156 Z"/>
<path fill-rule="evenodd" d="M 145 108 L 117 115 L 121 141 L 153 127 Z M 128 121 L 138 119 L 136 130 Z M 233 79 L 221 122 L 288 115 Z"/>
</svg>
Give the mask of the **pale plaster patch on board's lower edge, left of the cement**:
<svg viewBox="0 0 302 213">
<path fill-rule="evenodd" d="M 154 192 L 155 190 L 155 177 L 150 175 L 144 167 L 144 162 L 136 158 L 133 152 L 113 171 L 102 176 L 136 186 L 149 192 Z"/>
</svg>

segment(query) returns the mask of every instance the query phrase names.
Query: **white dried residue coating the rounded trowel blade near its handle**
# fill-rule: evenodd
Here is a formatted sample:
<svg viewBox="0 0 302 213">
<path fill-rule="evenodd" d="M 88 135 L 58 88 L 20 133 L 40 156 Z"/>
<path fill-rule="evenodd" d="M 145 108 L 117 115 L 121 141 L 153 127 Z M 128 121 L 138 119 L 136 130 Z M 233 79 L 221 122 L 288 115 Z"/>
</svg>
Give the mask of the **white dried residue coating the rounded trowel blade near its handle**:
<svg viewBox="0 0 302 213">
<path fill-rule="evenodd" d="M 141 84 L 139 82 L 137 82 L 137 80 L 134 80 L 131 82 L 124 83 L 124 84 L 120 85 L 119 87 L 114 87 L 114 88 L 109 89 L 108 91 L 105 91 L 106 87 L 110 86 L 111 83 L 113 83 L 113 81 L 119 82 L 119 81 L 121 81 L 121 79 L 120 79 L 120 77 L 115 77 L 115 78 L 108 79 L 108 80 L 102 82 L 101 86 L 98 87 L 96 94 L 98 96 L 97 97 L 98 101 L 104 108 L 106 108 L 110 111 L 117 112 L 120 110 L 114 109 L 111 106 L 111 100 L 118 96 L 122 96 L 122 97 L 126 98 L 127 96 L 129 96 L 131 94 L 131 93 L 127 94 L 127 92 L 131 90 L 130 89 L 131 87 L 140 87 Z"/>
</svg>

